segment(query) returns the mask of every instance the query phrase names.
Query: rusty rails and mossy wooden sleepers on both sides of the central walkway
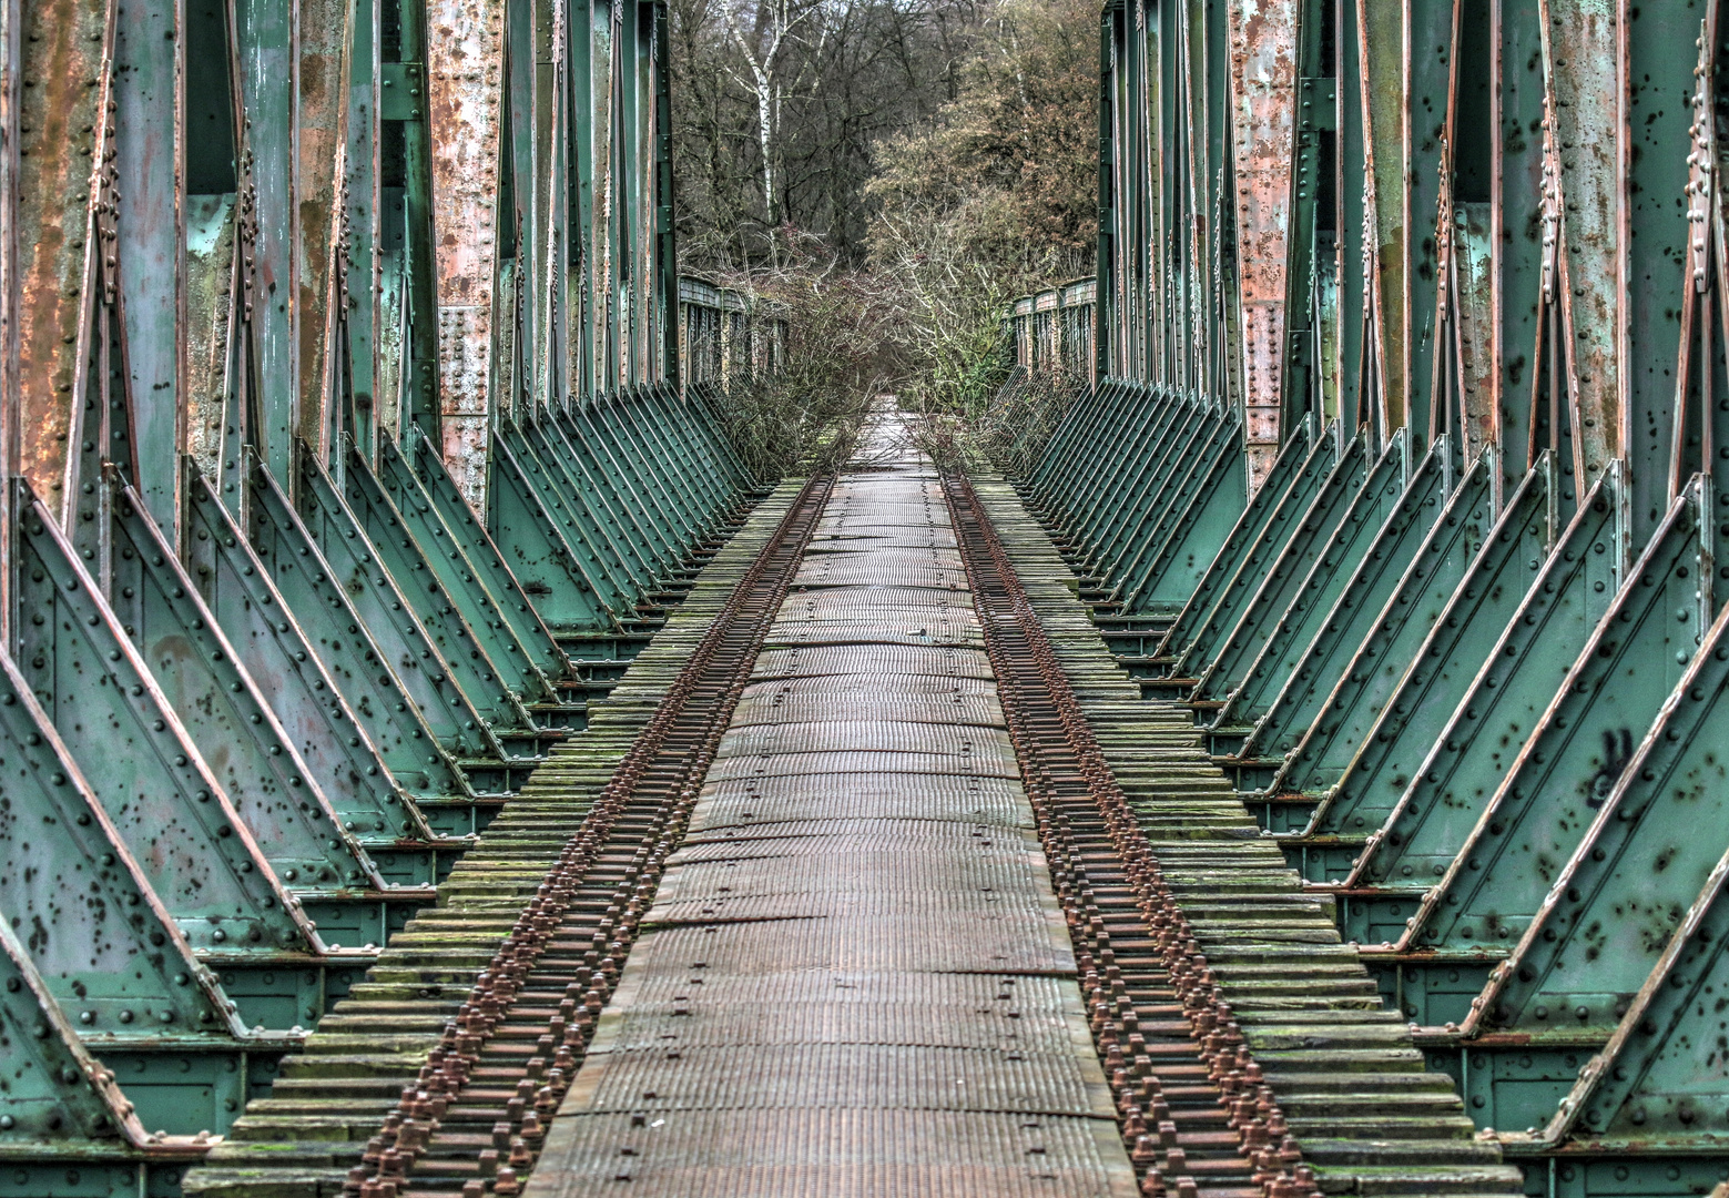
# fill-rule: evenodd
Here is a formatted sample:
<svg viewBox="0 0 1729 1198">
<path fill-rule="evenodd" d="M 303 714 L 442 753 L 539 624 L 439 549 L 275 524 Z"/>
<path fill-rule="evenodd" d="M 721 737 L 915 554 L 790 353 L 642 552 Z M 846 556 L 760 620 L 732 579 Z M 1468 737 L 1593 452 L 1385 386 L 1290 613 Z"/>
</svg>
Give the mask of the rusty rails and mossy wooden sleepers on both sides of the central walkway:
<svg viewBox="0 0 1729 1198">
<path fill-rule="evenodd" d="M 764 501 L 187 1193 L 522 1191 L 830 489 Z M 1516 1193 L 1013 493 L 944 498 L 1141 1193 Z"/>
</svg>

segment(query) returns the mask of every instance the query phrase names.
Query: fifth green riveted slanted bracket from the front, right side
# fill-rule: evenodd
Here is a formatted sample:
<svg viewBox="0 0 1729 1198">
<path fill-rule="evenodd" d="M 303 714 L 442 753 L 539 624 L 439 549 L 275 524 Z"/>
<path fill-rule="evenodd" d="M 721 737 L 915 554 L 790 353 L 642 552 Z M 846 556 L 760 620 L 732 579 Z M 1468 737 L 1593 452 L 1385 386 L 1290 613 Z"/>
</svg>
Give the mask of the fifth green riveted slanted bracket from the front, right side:
<svg viewBox="0 0 1729 1198">
<path fill-rule="evenodd" d="M 1553 479 L 1553 472 L 1544 479 Z M 1598 484 L 1585 505 L 1598 520 L 1611 507 L 1603 486 Z M 1283 781 L 1286 790 L 1317 793 L 1326 787 L 1305 835 L 1366 838 L 1381 830 L 1413 771 L 1445 730 L 1483 659 L 1518 615 L 1549 560 L 1554 546 L 1553 515 L 1549 486 L 1530 482 L 1515 496 L 1482 550 L 1470 560 L 1464 577 L 1425 629 L 1421 645 L 1409 666 L 1402 667 L 1373 721 L 1361 735 L 1352 731 L 1357 724 L 1342 724 L 1330 733 L 1333 740 L 1326 749 L 1349 754 L 1335 781 L 1328 785 L 1337 757 L 1321 757 L 1319 747 L 1309 749 L 1314 754 L 1311 759 L 1295 759 L 1304 773 L 1288 773 Z M 1361 856 L 1361 851 L 1354 856 Z M 1352 868 L 1356 864 L 1357 861 L 1350 863 Z"/>
</svg>

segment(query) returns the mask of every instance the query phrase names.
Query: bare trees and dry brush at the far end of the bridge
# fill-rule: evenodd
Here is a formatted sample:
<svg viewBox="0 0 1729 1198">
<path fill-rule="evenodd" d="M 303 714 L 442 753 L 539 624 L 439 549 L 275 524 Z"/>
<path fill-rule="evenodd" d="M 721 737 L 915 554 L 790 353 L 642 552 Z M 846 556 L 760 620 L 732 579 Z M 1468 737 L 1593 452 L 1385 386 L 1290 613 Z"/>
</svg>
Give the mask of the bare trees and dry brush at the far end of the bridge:
<svg viewBox="0 0 1729 1198">
<path fill-rule="evenodd" d="M 873 394 L 944 455 L 1008 462 L 1067 403 L 1005 389 L 1003 306 L 1091 270 L 1098 14 L 1081 0 L 674 0 L 681 258 L 785 306 L 735 389 L 766 474 Z"/>
</svg>

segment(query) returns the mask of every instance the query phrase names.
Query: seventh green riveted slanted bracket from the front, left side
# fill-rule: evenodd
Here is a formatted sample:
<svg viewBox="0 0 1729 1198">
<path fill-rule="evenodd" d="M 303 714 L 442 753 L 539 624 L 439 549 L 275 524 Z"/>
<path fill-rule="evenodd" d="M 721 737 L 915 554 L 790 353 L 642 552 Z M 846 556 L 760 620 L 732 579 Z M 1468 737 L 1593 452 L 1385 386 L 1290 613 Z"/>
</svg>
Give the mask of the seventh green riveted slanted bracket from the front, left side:
<svg viewBox="0 0 1729 1198">
<path fill-rule="evenodd" d="M 349 603 L 394 666 L 403 690 L 420 704 L 439 743 L 463 755 L 507 755 L 496 731 L 531 730 L 527 711 L 503 690 L 455 612 L 446 617 L 432 609 L 432 622 L 420 617 L 420 605 L 408 598 L 391 570 L 392 557 L 401 551 L 401 532 L 387 541 L 389 553 L 380 550 L 313 453 L 303 446 L 296 456 L 296 515 L 337 570 Z M 441 724 L 451 726 L 451 740 L 444 740 Z"/>
</svg>

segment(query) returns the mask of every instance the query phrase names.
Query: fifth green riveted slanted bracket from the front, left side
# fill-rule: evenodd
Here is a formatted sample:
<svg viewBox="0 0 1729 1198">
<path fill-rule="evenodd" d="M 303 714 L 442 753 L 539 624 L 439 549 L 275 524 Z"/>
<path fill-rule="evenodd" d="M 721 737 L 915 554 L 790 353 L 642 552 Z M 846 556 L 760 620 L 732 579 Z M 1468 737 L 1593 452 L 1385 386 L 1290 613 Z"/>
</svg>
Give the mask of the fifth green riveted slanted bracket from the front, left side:
<svg viewBox="0 0 1729 1198">
<path fill-rule="evenodd" d="M 372 726 L 380 721 L 372 712 L 361 719 L 349 709 L 214 487 L 190 458 L 185 468 L 187 576 L 240 664 L 252 678 L 270 679 L 263 693 L 344 830 L 368 849 L 431 840 L 431 828 L 372 738 Z"/>
</svg>

